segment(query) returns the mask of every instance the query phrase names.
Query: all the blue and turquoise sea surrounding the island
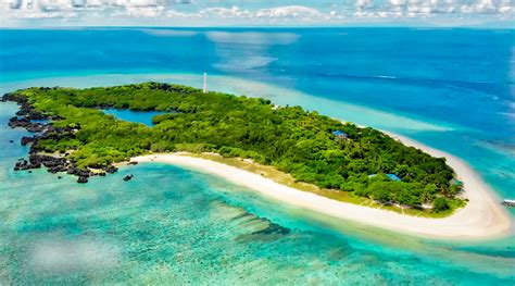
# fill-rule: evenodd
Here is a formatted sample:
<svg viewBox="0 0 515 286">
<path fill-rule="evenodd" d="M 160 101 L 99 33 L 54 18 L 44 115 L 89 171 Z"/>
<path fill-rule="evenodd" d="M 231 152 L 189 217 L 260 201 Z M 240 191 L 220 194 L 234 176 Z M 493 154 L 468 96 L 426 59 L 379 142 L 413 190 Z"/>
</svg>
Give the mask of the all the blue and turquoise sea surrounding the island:
<svg viewBox="0 0 515 286">
<path fill-rule="evenodd" d="M 299 104 L 448 151 L 499 198 L 515 197 L 515 30 L 0 30 L 1 92 L 201 87 L 204 72 L 211 90 Z M 515 284 L 515 236 L 391 234 L 168 165 L 127 166 L 85 186 L 15 173 L 26 149 L 9 139 L 25 133 L 5 127 L 15 105 L 0 111 L 0 284 Z M 125 184 L 126 173 L 136 179 Z"/>
</svg>

